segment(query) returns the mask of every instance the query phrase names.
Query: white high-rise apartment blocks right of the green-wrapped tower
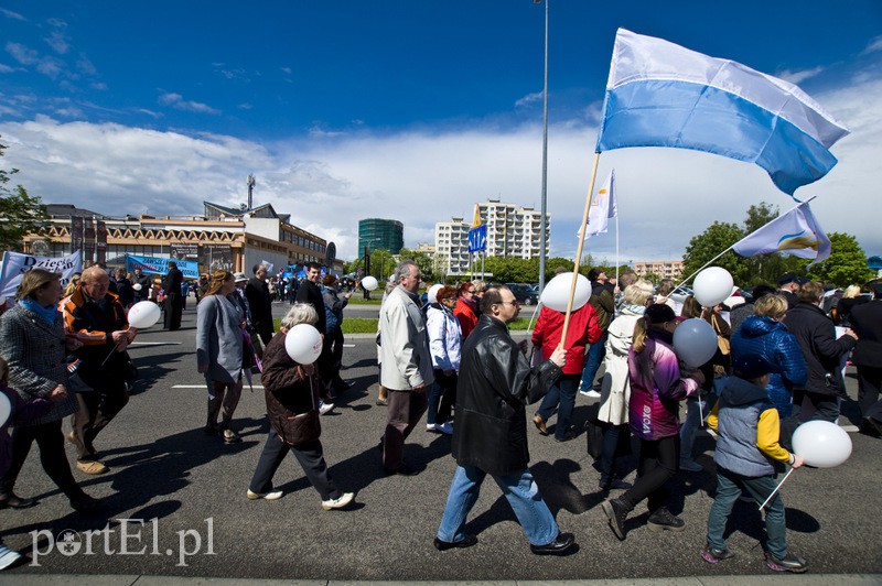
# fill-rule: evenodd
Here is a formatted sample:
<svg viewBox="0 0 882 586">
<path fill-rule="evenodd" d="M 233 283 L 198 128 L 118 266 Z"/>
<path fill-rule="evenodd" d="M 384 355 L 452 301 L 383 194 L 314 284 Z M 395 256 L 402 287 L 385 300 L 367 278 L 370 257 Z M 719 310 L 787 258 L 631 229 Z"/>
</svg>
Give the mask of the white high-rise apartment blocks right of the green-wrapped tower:
<svg viewBox="0 0 882 586">
<path fill-rule="evenodd" d="M 531 207 L 504 204 L 488 199 L 477 204 L 481 223 L 487 226 L 487 257 L 531 259 L 541 250 L 541 214 Z M 548 223 L 545 249 L 551 240 L 551 216 Z M 472 221 L 452 218 L 434 226 L 435 258 L 438 264 L 451 276 L 469 272 L 469 230 Z"/>
</svg>

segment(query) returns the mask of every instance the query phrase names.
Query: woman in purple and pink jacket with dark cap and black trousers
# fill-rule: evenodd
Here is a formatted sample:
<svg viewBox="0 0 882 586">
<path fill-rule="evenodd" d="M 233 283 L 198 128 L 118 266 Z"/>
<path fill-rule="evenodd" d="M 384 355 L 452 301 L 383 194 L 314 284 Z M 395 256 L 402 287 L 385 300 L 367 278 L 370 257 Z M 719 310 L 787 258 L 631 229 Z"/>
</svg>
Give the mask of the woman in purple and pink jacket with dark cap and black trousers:
<svg viewBox="0 0 882 586">
<path fill-rule="evenodd" d="M 674 310 L 662 304 L 649 305 L 634 325 L 627 356 L 628 423 L 641 441 L 637 480 L 621 497 L 601 506 L 620 540 L 625 539 L 627 514 L 647 498 L 649 529 L 682 531 L 686 525 L 667 508 L 667 484 L 679 469 L 679 403 L 698 392 L 704 377 L 699 371 L 688 378 L 680 375 L 673 347 L 676 327 Z"/>
</svg>

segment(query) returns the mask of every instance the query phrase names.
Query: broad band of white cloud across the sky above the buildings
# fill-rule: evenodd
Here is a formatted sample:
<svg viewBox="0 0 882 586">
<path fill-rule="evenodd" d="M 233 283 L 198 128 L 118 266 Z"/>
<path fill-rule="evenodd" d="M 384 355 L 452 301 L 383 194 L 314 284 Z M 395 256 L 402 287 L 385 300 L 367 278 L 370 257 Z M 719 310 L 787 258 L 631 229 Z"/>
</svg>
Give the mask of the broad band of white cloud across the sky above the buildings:
<svg viewBox="0 0 882 586">
<path fill-rule="evenodd" d="M 852 134 L 833 146 L 840 163 L 797 196 L 828 231 L 858 237 L 868 254 L 882 252 L 873 219 L 882 158 L 882 80 L 851 83 L 816 95 Z M 185 104 L 166 94 L 165 104 Z M 151 116 L 152 112 L 144 112 Z M 257 203 L 271 203 L 293 224 L 356 254 L 358 220 L 386 217 L 405 224 L 406 246 L 431 241 L 435 221 L 470 217 L 473 205 L 499 198 L 540 205 L 541 126 L 508 130 L 412 130 L 379 135 L 319 131 L 276 144 L 233 137 L 185 135 L 119 124 L 63 123 L 37 117 L 0 122 L 10 148 L 4 163 L 44 202 L 68 202 L 110 215 L 200 214 L 202 202 L 236 206 L 245 180 L 257 177 Z M 553 256 L 572 256 L 588 193 L 594 126 L 549 128 L 548 211 Z M 623 149 L 601 156 L 598 185 L 615 167 L 621 216 L 621 260 L 679 258 L 689 239 L 714 220 L 740 224 L 752 204 L 782 211 L 793 200 L 766 173 L 747 163 L 671 149 Z M 594 258 L 615 256 L 615 232 L 588 241 Z"/>
</svg>

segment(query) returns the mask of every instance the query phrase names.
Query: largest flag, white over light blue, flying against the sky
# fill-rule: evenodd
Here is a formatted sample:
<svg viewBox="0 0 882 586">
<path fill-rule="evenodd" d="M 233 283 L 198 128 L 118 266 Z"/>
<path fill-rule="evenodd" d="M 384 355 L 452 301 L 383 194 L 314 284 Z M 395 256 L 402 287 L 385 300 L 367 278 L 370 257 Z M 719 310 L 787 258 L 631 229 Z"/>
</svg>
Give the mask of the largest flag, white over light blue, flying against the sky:
<svg viewBox="0 0 882 586">
<path fill-rule="evenodd" d="M 596 152 L 671 146 L 756 163 L 783 192 L 826 175 L 848 129 L 795 85 L 619 29 Z"/>
</svg>

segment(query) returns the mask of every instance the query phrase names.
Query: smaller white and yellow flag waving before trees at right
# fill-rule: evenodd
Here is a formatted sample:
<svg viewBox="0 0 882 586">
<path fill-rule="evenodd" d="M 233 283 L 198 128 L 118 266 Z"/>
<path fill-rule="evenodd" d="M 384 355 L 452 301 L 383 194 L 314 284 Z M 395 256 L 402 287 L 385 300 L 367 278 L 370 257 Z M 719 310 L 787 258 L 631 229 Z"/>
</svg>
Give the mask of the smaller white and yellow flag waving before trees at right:
<svg viewBox="0 0 882 586">
<path fill-rule="evenodd" d="M 732 250 L 742 257 L 783 252 L 815 259 L 811 267 L 830 256 L 830 239 L 806 202 L 742 238 L 732 245 Z"/>
</svg>

